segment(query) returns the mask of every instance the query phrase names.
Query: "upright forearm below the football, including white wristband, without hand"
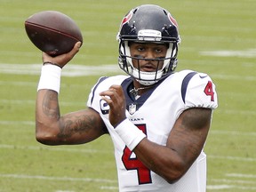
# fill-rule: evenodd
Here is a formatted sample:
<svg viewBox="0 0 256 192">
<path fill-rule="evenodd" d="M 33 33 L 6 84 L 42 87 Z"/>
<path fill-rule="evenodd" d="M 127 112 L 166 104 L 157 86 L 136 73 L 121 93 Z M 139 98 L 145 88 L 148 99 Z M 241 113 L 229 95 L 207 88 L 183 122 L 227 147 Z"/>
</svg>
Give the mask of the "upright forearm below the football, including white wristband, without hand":
<svg viewBox="0 0 256 192">
<path fill-rule="evenodd" d="M 36 140 L 44 144 L 59 144 L 61 68 L 45 63 L 37 87 L 36 99 Z"/>
</svg>

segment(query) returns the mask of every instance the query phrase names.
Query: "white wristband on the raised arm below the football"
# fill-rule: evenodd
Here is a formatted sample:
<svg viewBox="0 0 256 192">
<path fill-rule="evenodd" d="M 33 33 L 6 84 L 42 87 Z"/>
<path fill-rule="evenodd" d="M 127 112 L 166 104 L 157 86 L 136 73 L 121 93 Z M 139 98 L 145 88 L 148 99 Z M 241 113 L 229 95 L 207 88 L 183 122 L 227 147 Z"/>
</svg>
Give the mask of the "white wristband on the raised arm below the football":
<svg viewBox="0 0 256 192">
<path fill-rule="evenodd" d="M 60 66 L 45 62 L 41 69 L 41 76 L 37 86 L 37 91 L 48 89 L 60 93 L 60 75 Z"/>
</svg>

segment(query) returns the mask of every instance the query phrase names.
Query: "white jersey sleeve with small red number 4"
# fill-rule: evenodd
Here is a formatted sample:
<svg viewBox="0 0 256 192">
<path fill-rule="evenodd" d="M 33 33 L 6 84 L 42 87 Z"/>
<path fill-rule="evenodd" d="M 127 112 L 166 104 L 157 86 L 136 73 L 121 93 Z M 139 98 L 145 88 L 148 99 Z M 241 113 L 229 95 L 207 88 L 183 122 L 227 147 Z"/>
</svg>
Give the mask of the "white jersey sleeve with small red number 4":
<svg viewBox="0 0 256 192">
<path fill-rule="evenodd" d="M 217 92 L 211 77 L 204 73 L 190 73 L 187 77 L 186 93 L 182 95 L 185 108 L 217 108 Z"/>
</svg>

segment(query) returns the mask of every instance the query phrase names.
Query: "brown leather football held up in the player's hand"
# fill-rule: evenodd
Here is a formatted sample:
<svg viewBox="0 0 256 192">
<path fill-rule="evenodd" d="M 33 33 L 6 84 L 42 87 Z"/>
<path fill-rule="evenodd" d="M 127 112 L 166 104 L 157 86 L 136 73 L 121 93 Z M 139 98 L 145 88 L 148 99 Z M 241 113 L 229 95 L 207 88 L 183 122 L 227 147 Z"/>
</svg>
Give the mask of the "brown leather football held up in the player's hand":
<svg viewBox="0 0 256 192">
<path fill-rule="evenodd" d="M 25 20 L 30 41 L 42 52 L 57 56 L 70 52 L 83 36 L 76 22 L 62 12 L 37 12 Z"/>
</svg>

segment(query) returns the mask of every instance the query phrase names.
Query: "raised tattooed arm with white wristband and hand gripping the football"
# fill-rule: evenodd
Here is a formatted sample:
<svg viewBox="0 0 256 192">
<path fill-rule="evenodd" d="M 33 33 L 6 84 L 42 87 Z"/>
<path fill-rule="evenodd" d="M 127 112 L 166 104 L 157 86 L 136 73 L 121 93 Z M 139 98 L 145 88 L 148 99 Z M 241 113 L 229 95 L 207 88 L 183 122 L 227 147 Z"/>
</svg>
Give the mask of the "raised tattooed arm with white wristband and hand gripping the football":
<svg viewBox="0 0 256 192">
<path fill-rule="evenodd" d="M 36 140 L 46 145 L 86 143 L 106 133 L 100 114 L 92 108 L 60 116 L 60 70 L 79 47 L 78 42 L 71 52 L 54 58 L 43 53 L 44 75 L 42 68 L 36 98 Z"/>
</svg>

